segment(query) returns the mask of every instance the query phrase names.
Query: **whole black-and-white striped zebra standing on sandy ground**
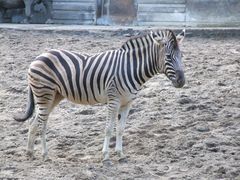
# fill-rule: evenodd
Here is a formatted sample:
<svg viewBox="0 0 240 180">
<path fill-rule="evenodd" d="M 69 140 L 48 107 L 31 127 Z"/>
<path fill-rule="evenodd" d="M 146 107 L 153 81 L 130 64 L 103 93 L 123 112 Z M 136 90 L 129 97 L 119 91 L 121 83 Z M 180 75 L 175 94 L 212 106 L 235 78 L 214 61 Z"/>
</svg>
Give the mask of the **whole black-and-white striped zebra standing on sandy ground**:
<svg viewBox="0 0 240 180">
<path fill-rule="evenodd" d="M 110 161 L 109 141 L 116 120 L 116 147 L 123 159 L 123 132 L 132 101 L 143 84 L 157 74 L 165 74 L 176 88 L 185 84 L 179 44 L 185 30 L 177 36 L 172 30 L 154 30 L 133 37 L 115 50 L 95 55 L 67 50 L 47 51 L 30 64 L 26 112 L 14 119 L 29 119 L 27 155 L 33 157 L 37 133 L 42 139 L 42 156 L 47 159 L 46 124 L 53 108 L 63 99 L 78 104 L 107 104 L 107 123 L 103 142 L 103 162 Z"/>
</svg>

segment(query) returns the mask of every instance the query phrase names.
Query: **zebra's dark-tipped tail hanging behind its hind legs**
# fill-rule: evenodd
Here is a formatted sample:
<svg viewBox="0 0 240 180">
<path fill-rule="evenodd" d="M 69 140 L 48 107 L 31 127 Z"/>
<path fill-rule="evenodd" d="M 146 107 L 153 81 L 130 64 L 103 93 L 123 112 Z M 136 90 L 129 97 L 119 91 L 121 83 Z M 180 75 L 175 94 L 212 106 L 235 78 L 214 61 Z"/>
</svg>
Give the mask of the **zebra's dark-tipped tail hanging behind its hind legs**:
<svg viewBox="0 0 240 180">
<path fill-rule="evenodd" d="M 30 118 L 33 114 L 34 111 L 34 97 L 33 97 L 33 92 L 30 87 L 28 87 L 28 104 L 27 104 L 27 110 L 24 114 L 19 114 L 14 116 L 13 118 L 18 121 L 18 122 L 24 122 L 28 118 Z"/>
</svg>

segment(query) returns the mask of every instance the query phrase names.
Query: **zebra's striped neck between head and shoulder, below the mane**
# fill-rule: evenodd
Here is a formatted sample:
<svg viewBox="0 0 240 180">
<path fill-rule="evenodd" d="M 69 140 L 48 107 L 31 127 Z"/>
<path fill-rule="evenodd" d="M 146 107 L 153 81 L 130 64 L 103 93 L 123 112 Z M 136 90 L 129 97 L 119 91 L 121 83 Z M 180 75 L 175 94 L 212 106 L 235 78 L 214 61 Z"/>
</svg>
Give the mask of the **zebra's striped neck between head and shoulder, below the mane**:
<svg viewBox="0 0 240 180">
<path fill-rule="evenodd" d="M 126 52 L 126 59 L 133 70 L 133 77 L 139 86 L 160 71 L 160 47 L 157 46 L 150 35 L 136 37 L 122 45 Z"/>
</svg>

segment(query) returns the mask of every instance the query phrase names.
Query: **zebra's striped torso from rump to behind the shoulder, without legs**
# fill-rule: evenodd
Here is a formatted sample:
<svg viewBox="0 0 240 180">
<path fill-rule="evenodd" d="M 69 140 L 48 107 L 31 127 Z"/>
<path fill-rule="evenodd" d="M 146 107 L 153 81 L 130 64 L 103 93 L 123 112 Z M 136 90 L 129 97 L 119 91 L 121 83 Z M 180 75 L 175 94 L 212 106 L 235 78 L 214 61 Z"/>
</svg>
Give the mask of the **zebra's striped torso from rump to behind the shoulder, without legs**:
<svg viewBox="0 0 240 180">
<path fill-rule="evenodd" d="M 51 50 L 31 63 L 29 84 L 39 96 L 54 89 L 75 103 L 106 103 L 107 88 L 115 74 L 116 63 L 115 51 L 89 56 Z"/>
</svg>

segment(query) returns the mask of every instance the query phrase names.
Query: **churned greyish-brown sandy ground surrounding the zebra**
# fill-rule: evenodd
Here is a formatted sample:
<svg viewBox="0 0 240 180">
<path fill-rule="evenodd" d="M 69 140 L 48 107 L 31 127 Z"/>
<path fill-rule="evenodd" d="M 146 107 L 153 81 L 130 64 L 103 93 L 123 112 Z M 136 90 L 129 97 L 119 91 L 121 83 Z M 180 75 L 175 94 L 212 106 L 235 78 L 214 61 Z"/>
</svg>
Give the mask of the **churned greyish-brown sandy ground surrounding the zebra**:
<svg viewBox="0 0 240 180">
<path fill-rule="evenodd" d="M 117 48 L 128 32 L 0 30 L 0 179 L 240 179 L 240 43 L 231 37 L 186 38 L 187 83 L 164 75 L 144 85 L 124 136 L 126 162 L 101 163 L 106 107 L 63 101 L 47 132 L 50 161 L 26 157 L 27 69 L 40 53 L 63 48 L 96 53 Z"/>
</svg>

